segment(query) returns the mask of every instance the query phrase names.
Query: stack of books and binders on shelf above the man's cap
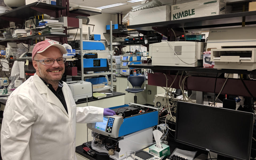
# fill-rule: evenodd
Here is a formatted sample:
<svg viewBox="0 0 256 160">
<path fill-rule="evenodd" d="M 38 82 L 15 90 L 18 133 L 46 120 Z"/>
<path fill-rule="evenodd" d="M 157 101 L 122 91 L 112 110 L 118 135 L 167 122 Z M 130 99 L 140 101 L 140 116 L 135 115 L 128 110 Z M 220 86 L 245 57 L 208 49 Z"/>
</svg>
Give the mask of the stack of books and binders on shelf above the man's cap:
<svg viewBox="0 0 256 160">
<path fill-rule="evenodd" d="M 66 34 L 63 33 L 65 30 L 63 27 L 63 22 L 59 22 L 59 20 L 43 19 L 39 21 L 37 28 L 42 29 L 40 31 L 41 34 Z"/>
</svg>

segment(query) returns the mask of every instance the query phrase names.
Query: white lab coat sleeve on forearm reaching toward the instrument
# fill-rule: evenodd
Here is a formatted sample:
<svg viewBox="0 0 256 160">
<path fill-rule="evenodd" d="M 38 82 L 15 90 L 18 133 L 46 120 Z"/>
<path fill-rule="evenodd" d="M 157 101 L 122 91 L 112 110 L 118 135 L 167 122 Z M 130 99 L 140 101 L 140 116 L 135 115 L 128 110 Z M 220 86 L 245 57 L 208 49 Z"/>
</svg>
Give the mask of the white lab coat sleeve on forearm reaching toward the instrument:
<svg viewBox="0 0 256 160">
<path fill-rule="evenodd" d="M 76 122 L 77 123 L 93 123 L 103 122 L 103 108 L 86 106 L 76 107 Z"/>
</svg>

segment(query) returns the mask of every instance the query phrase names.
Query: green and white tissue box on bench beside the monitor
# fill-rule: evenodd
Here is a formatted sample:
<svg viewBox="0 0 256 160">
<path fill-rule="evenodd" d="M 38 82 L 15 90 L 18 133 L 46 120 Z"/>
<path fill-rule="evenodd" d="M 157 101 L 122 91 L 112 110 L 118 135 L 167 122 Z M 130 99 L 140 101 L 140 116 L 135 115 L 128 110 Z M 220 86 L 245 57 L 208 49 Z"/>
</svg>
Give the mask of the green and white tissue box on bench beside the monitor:
<svg viewBox="0 0 256 160">
<path fill-rule="evenodd" d="M 158 157 L 166 157 L 170 155 L 170 147 L 166 144 L 161 144 L 162 148 L 158 148 L 156 144 L 149 147 L 149 153 L 154 154 Z"/>
</svg>

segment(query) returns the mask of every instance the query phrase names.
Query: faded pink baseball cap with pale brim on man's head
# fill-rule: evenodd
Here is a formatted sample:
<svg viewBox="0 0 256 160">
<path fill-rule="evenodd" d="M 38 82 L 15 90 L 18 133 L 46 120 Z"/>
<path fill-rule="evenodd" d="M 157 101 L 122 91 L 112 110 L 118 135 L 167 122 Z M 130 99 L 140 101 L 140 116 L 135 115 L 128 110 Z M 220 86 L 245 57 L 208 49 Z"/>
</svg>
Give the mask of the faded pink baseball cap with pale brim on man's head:
<svg viewBox="0 0 256 160">
<path fill-rule="evenodd" d="M 58 44 L 58 43 L 54 43 L 53 41 L 50 41 L 50 40 L 45 40 L 45 41 L 42 41 L 42 42 L 38 42 L 33 51 L 32 51 L 32 61 L 34 60 L 34 57 L 37 53 L 42 53 L 44 52 L 45 50 L 47 50 L 50 46 L 54 46 L 54 47 L 58 47 L 59 50 L 61 50 L 61 53 L 62 54 L 66 54 L 67 53 L 67 50 L 65 47 L 63 47 L 61 44 Z"/>
</svg>

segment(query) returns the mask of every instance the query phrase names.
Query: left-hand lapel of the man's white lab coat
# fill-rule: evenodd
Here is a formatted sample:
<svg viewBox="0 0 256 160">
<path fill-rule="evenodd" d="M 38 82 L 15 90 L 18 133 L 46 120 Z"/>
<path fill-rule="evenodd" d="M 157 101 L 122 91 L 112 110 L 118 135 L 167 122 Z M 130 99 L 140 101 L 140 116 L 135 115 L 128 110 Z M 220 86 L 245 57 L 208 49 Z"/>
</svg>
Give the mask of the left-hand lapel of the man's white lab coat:
<svg viewBox="0 0 256 160">
<path fill-rule="evenodd" d="M 59 107 L 66 116 L 68 116 L 64 106 L 62 105 L 61 101 L 54 95 L 54 93 L 45 85 L 45 83 L 42 81 L 42 79 L 37 75 L 34 74 L 33 81 L 35 86 L 37 87 L 37 90 L 40 94 L 47 94 L 47 102 Z M 64 94 L 64 93 L 63 93 Z M 66 100 L 66 97 L 65 97 Z"/>
</svg>

